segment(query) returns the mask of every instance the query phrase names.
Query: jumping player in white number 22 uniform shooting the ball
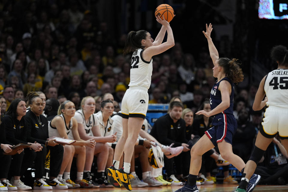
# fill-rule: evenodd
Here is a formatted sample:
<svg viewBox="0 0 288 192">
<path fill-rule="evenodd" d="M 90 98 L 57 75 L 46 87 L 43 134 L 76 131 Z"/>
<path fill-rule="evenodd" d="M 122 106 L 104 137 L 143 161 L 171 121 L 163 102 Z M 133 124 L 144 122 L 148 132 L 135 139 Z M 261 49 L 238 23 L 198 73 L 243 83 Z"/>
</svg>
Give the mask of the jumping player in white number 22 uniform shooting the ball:
<svg viewBox="0 0 288 192">
<path fill-rule="evenodd" d="M 113 166 L 106 169 L 106 173 L 108 182 L 113 184 L 113 186 L 120 187 L 120 181 L 128 190 L 132 190 L 130 162 L 134 145 L 148 109 L 149 95 L 147 91 L 151 84 L 152 56 L 158 55 L 174 46 L 173 32 L 169 22 L 159 16 L 156 20 L 162 24 L 162 27 L 155 41 L 150 33 L 145 30 L 131 31 L 127 36 L 124 48 L 124 55 L 129 52 L 133 52 L 133 55 L 130 67 L 129 89 L 123 97 L 121 106 L 123 134 L 116 145 Z M 167 42 L 162 43 L 166 31 Z M 119 160 L 123 151 L 125 153 L 124 166 L 119 169 Z"/>
</svg>

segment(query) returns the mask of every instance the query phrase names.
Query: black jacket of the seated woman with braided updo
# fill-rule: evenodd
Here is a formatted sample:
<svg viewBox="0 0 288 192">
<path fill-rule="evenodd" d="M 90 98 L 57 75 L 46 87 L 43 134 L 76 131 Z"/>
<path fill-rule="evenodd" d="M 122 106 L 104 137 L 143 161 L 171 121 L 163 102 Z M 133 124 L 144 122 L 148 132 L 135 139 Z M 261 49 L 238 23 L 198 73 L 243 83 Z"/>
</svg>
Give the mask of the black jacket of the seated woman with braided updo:
<svg viewBox="0 0 288 192">
<path fill-rule="evenodd" d="M 40 115 L 41 124 L 39 124 L 38 119 L 31 110 L 29 110 L 24 116 L 25 123 L 27 125 L 27 141 L 30 143 L 45 144 L 46 139 L 49 138 L 48 134 L 48 121 L 45 116 Z"/>
</svg>

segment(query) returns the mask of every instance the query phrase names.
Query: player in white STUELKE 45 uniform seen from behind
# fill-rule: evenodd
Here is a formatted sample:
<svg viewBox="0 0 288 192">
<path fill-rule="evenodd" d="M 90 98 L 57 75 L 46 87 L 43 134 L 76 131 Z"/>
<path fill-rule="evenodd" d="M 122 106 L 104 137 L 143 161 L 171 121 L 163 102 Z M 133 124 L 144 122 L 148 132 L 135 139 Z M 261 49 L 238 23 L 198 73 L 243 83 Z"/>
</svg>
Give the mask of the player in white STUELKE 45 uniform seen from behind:
<svg viewBox="0 0 288 192">
<path fill-rule="evenodd" d="M 271 58 L 278 63 L 277 69 L 264 76 L 255 95 L 253 110 L 261 110 L 266 104 L 268 108 L 264 113 L 262 127 L 260 128 L 255 147 L 247 162 L 244 175 L 236 192 L 246 192 L 249 178 L 255 171 L 256 166 L 264 155 L 268 145 L 277 132 L 279 132 L 281 144 L 288 151 L 288 50 L 285 46 L 273 47 Z M 263 98 L 266 94 L 264 101 Z M 277 158 L 278 163 L 281 158 Z M 245 176 L 246 175 L 246 176 Z M 248 188 L 247 187 L 247 188 Z M 249 190 L 247 190 L 249 191 Z"/>
</svg>

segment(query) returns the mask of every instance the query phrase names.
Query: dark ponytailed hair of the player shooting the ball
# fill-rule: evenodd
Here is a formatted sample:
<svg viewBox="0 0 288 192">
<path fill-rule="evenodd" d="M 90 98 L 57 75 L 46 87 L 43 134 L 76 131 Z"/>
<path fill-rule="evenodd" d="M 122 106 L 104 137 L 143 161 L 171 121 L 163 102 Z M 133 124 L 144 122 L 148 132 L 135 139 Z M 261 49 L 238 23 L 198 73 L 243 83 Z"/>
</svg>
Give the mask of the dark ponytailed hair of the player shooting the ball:
<svg viewBox="0 0 288 192">
<path fill-rule="evenodd" d="M 146 38 L 146 33 L 147 31 L 145 30 L 140 30 L 137 32 L 135 31 L 129 32 L 126 38 L 123 55 L 135 51 L 136 49 L 144 48 L 144 46 L 142 46 L 141 44 L 141 41 L 142 39 Z"/>
</svg>

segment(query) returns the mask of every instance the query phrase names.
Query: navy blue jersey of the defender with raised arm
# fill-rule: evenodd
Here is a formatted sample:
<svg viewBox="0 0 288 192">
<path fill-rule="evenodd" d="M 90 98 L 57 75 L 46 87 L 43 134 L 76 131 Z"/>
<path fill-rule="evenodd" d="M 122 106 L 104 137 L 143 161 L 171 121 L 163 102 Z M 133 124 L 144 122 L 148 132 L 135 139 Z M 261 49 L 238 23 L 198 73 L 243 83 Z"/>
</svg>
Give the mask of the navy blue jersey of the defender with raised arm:
<svg viewBox="0 0 288 192">
<path fill-rule="evenodd" d="M 219 82 L 215 82 L 213 88 L 210 92 L 210 106 L 211 110 L 213 110 L 215 107 L 217 107 L 221 102 L 221 91 L 218 89 L 220 82 L 226 80 L 231 84 L 231 95 L 230 95 L 230 106 L 226 110 L 224 110 L 224 113 L 226 114 L 233 114 L 233 99 L 234 99 L 234 83 L 228 78 L 224 77 Z M 223 112 L 222 112 L 223 113 Z"/>
</svg>

